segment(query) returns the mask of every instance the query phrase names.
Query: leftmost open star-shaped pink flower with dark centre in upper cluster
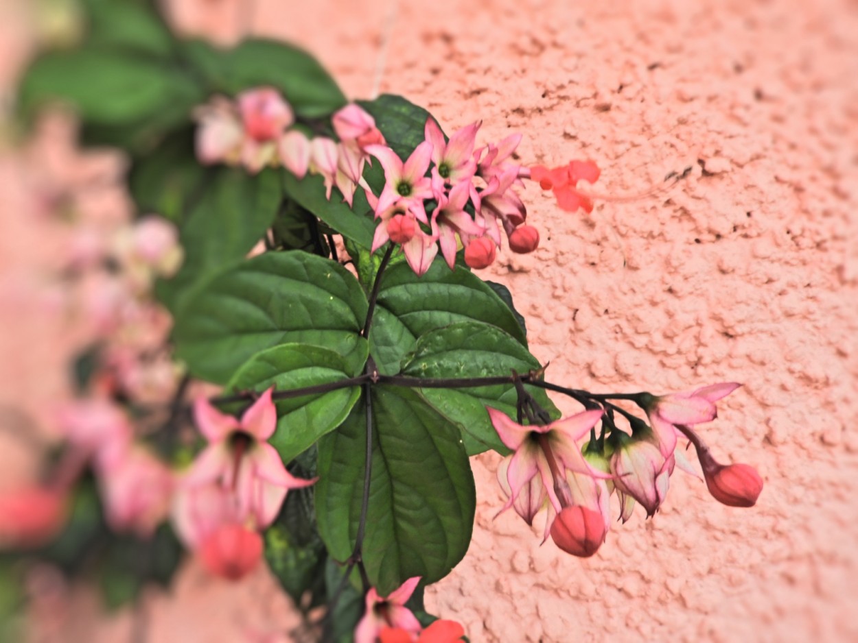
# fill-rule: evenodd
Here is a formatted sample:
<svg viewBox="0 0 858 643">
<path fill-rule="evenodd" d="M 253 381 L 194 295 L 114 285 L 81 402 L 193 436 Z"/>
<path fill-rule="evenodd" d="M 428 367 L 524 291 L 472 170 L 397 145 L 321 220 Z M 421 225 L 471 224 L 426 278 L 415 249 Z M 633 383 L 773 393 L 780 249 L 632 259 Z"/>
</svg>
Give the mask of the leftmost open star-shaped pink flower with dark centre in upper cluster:
<svg viewBox="0 0 858 643">
<path fill-rule="evenodd" d="M 408 207 L 420 222 L 428 224 L 423 200 L 433 196 L 432 181 L 424 175 L 432 161 L 432 144 L 420 143 L 404 163 L 396 152 L 384 145 L 369 145 L 366 152 L 379 160 L 386 179 L 378 196 L 376 214 L 398 204 Z"/>
</svg>

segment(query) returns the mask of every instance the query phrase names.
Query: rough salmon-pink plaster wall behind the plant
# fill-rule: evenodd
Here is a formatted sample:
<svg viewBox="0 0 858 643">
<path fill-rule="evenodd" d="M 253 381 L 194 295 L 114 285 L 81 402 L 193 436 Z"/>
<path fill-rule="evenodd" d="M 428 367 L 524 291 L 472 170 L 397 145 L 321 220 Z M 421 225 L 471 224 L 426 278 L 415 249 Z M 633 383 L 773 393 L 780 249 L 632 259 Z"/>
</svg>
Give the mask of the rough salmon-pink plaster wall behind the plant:
<svg viewBox="0 0 858 643">
<path fill-rule="evenodd" d="M 654 520 L 638 509 L 581 561 L 540 547 L 515 514 L 492 520 L 499 459 L 480 456 L 474 542 L 428 607 L 476 643 L 858 640 L 855 3 L 294 4 L 257 0 L 247 15 L 247 3 L 184 0 L 176 18 L 221 39 L 246 27 L 296 40 L 355 97 L 373 92 L 386 47 L 380 90 L 426 105 L 446 129 L 482 119 L 483 140 L 521 130 L 525 161 L 586 156 L 603 168 L 601 192 L 640 195 L 587 217 L 530 189 L 541 249 L 487 271 L 510 285 L 553 381 L 746 384 L 704 436 L 720 459 L 759 467 L 756 508 L 724 508 L 678 473 Z M 3 198 L 8 273 L 32 262 L 13 234 L 38 237 Z M 0 296 L 3 399 L 36 405 L 61 388 L 43 374 L 58 368 L 51 347 L 65 331 L 21 324 L 19 303 Z M 24 337 L 46 347 L 33 354 Z M 236 591 L 185 569 L 148 604 L 149 640 L 287 627 L 272 587 L 264 572 Z M 121 640 L 129 622 L 79 625 Z"/>
</svg>

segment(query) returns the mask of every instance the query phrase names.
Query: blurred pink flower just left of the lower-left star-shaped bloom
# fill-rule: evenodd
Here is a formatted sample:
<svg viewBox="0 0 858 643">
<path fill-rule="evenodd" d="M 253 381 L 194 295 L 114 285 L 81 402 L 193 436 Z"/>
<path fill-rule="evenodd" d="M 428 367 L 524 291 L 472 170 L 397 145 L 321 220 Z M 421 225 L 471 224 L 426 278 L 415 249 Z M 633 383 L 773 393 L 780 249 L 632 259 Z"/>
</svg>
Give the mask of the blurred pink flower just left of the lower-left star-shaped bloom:
<svg viewBox="0 0 858 643">
<path fill-rule="evenodd" d="M 99 483 L 107 522 L 117 532 L 148 538 L 169 513 L 172 471 L 144 448 L 130 448 Z"/>
</svg>

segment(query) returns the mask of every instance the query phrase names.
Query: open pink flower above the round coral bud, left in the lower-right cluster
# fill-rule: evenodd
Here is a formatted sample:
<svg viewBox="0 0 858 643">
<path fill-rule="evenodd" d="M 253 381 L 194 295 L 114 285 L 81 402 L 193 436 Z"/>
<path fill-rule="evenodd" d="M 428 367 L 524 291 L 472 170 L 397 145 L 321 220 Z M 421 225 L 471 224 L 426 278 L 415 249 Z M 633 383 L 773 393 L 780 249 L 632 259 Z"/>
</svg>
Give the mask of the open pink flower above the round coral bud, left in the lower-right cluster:
<svg viewBox="0 0 858 643">
<path fill-rule="evenodd" d="M 501 486 L 510 496 L 501 511 L 513 507 L 530 525 L 545 503 L 560 512 L 572 502 L 566 473 L 574 472 L 595 478 L 610 478 L 589 465 L 577 441 L 599 422 L 601 410 L 583 411 L 545 425 L 523 426 L 505 413 L 487 407 L 501 442 L 515 451 L 498 469 L 505 472 Z M 505 483 L 505 484 L 504 484 Z"/>
</svg>

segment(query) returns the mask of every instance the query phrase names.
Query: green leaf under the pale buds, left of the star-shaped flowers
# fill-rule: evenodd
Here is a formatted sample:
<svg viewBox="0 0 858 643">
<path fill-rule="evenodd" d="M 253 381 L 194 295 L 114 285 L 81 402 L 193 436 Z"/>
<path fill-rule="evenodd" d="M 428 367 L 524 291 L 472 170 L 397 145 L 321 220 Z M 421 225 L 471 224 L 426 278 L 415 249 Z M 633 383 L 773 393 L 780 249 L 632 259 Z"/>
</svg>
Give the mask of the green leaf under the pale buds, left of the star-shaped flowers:
<svg viewBox="0 0 858 643">
<path fill-rule="evenodd" d="M 375 234 L 375 221 L 372 210 L 366 204 L 363 190 L 358 190 L 354 199 L 354 209 L 341 202 L 339 190 L 331 194 L 330 200 L 325 198 L 324 181 L 318 175 L 307 175 L 299 180 L 292 172 L 283 172 L 283 186 L 287 195 L 330 225 L 343 237 L 347 237 L 370 248 L 372 235 Z"/>
</svg>

